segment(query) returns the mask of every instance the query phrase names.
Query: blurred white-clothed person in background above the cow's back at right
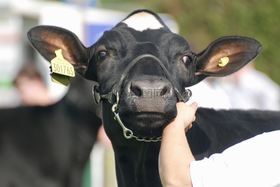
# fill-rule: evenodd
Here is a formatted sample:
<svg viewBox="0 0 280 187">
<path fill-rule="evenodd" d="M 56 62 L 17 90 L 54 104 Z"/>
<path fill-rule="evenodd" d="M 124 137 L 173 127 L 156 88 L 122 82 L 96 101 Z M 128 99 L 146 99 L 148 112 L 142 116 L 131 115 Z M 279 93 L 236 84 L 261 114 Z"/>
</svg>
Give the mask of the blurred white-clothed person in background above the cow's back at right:
<svg viewBox="0 0 280 187">
<path fill-rule="evenodd" d="M 254 69 L 253 62 L 226 77 L 206 78 L 188 87 L 193 101 L 201 107 L 217 109 L 280 110 L 280 87 L 264 73 Z"/>
</svg>

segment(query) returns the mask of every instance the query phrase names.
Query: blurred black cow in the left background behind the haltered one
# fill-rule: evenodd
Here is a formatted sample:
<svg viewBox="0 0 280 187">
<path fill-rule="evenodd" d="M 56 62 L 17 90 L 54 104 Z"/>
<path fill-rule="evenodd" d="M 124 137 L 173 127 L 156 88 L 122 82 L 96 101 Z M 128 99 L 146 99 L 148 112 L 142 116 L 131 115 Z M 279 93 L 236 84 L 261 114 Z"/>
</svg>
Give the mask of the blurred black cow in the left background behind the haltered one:
<svg viewBox="0 0 280 187">
<path fill-rule="evenodd" d="M 90 87 L 77 76 L 53 105 L 0 110 L 0 186 L 81 186 L 101 125 Z"/>
</svg>

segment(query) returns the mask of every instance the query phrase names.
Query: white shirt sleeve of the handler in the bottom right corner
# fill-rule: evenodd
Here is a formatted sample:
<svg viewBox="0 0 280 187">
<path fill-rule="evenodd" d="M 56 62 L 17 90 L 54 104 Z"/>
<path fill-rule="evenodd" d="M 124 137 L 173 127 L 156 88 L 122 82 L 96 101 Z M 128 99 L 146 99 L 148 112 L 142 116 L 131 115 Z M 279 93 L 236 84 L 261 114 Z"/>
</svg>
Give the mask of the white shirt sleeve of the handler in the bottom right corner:
<svg viewBox="0 0 280 187">
<path fill-rule="evenodd" d="M 280 186 L 280 131 L 255 136 L 190 163 L 193 187 Z"/>
</svg>

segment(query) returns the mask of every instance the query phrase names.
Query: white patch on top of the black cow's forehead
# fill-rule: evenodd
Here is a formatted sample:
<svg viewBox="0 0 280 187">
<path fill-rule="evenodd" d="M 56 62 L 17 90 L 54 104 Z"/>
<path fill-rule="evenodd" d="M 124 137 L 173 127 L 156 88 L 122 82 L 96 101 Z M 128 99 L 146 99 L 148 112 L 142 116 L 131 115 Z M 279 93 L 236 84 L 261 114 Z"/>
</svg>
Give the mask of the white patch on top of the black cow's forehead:
<svg viewBox="0 0 280 187">
<path fill-rule="evenodd" d="M 157 18 L 148 12 L 139 12 L 122 21 L 134 30 L 160 29 L 164 27 Z"/>
</svg>

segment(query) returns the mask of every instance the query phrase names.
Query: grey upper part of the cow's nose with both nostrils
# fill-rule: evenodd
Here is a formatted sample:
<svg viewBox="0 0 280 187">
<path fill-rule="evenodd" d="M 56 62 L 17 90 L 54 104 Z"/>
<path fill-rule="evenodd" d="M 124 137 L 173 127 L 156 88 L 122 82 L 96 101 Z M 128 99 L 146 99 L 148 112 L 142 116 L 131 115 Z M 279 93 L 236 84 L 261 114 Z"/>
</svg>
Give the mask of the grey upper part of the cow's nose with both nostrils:
<svg viewBox="0 0 280 187">
<path fill-rule="evenodd" d="M 170 96 L 171 85 L 163 80 L 136 80 L 127 87 L 129 95 L 138 98 L 164 98 Z"/>
</svg>

